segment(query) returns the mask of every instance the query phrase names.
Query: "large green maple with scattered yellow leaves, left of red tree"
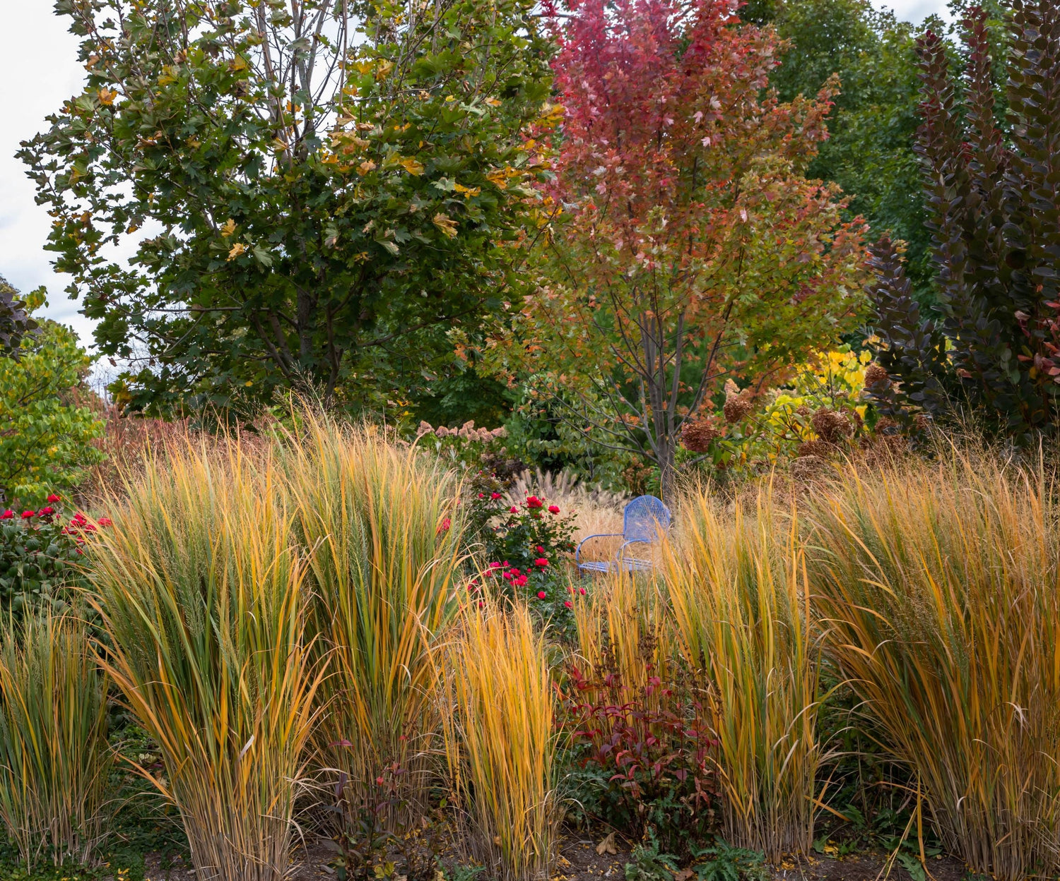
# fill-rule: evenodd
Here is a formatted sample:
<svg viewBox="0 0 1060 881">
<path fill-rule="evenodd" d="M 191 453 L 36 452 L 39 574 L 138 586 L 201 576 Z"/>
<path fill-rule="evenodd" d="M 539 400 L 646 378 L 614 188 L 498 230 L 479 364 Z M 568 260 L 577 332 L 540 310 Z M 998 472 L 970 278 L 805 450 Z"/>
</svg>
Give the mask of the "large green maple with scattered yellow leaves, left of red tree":
<svg viewBox="0 0 1060 881">
<path fill-rule="evenodd" d="M 88 76 L 20 155 L 122 398 L 385 400 L 517 299 L 532 6 L 59 0 Z"/>
</svg>

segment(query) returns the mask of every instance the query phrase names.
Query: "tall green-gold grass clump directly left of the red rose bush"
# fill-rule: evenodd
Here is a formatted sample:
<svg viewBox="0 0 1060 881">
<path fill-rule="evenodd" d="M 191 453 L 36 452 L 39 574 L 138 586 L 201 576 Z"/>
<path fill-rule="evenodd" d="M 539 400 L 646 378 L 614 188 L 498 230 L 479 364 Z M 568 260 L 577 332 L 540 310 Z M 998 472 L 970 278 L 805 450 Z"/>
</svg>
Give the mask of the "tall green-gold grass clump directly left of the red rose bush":
<svg viewBox="0 0 1060 881">
<path fill-rule="evenodd" d="M 299 539 L 314 583 L 318 649 L 331 676 L 317 761 L 371 785 L 398 762 L 422 804 L 441 753 L 436 647 L 456 611 L 457 483 L 437 460 L 371 426 L 313 411 L 284 448 Z"/>
</svg>

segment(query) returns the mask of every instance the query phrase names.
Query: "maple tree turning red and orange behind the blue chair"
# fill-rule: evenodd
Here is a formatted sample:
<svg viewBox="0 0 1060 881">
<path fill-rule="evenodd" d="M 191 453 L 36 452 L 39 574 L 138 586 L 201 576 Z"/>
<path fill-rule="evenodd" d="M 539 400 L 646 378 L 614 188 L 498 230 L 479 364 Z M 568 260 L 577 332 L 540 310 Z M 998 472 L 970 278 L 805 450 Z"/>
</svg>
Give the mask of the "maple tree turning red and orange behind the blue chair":
<svg viewBox="0 0 1060 881">
<path fill-rule="evenodd" d="M 783 46 L 737 8 L 571 0 L 553 16 L 549 248 L 492 348 L 572 425 L 657 465 L 664 495 L 682 425 L 724 381 L 760 392 L 850 326 L 861 298 L 863 223 L 802 174 L 837 83 L 780 103 Z"/>
</svg>

